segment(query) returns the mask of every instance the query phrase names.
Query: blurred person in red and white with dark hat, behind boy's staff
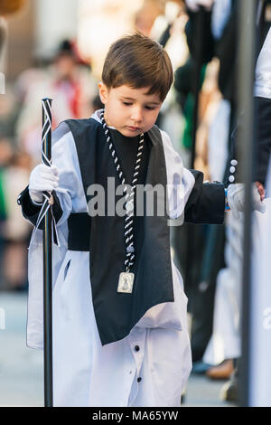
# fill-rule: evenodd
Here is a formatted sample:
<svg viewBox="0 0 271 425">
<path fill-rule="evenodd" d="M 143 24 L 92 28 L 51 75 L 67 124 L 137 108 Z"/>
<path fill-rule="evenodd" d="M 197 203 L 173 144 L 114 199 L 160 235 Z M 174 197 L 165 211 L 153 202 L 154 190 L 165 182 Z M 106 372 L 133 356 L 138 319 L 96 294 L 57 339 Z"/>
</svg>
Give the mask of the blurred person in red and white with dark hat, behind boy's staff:
<svg viewBox="0 0 271 425">
<path fill-rule="evenodd" d="M 25 76 L 25 71 L 23 74 Z M 26 93 L 17 121 L 17 137 L 20 148 L 37 162 L 41 155 L 41 145 L 37 142 L 41 140 L 41 100 L 53 99 L 53 127 L 65 118 L 87 118 L 91 113 L 91 99 L 97 94 L 96 81 L 89 69 L 79 64 L 72 43 L 65 40 L 51 66 L 38 73 L 35 71 L 35 80 L 27 78 L 23 87 Z"/>
</svg>

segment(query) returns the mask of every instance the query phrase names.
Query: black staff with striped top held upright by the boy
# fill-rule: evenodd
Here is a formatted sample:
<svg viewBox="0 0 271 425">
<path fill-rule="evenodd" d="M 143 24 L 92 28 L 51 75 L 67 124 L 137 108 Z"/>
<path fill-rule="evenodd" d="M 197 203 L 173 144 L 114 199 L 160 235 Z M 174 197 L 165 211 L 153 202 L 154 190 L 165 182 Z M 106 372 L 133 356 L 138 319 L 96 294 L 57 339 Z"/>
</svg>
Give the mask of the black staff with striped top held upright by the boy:
<svg viewBox="0 0 271 425">
<path fill-rule="evenodd" d="M 51 99 L 42 99 L 42 162 L 51 166 Z M 44 405 L 52 407 L 52 332 L 51 332 L 51 203 L 43 193 L 43 350 Z"/>
</svg>

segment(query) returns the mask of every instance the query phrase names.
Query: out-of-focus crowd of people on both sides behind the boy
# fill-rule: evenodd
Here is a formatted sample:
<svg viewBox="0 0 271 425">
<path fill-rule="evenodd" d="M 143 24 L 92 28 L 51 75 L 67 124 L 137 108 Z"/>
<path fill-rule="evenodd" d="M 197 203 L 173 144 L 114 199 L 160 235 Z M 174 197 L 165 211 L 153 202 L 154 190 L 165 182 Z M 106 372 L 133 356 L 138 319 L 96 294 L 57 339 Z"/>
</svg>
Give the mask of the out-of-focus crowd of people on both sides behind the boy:
<svg viewBox="0 0 271 425">
<path fill-rule="evenodd" d="M 237 118 L 237 4 L 235 0 L 145 0 L 132 19 L 131 30 L 134 26 L 160 42 L 173 62 L 173 88 L 157 124 L 169 134 L 187 167 L 192 156 L 195 63 L 200 60 L 193 165 L 210 181 L 234 181 L 234 171 L 229 175 L 229 169 L 235 169 L 235 163 L 228 164 L 228 158 Z M 41 162 L 44 97 L 53 99 L 53 127 L 66 118 L 88 118 L 102 108 L 98 77 L 91 63 L 80 58 L 76 42 L 63 40 L 50 61 L 39 58 L 7 84 L 5 96 L 0 97 L 0 290 L 27 288 L 26 248 L 32 229 L 23 220 L 16 198 L 33 165 Z M 194 371 L 198 367 L 202 373 L 211 364 L 221 364 L 222 368 L 209 372 L 212 378 L 229 377 L 233 359 L 240 355 L 241 227 L 242 222 L 233 221 L 230 213 L 225 227 L 197 226 L 191 252 L 189 228 L 173 229 L 174 261 L 185 277 L 190 299 Z"/>
</svg>

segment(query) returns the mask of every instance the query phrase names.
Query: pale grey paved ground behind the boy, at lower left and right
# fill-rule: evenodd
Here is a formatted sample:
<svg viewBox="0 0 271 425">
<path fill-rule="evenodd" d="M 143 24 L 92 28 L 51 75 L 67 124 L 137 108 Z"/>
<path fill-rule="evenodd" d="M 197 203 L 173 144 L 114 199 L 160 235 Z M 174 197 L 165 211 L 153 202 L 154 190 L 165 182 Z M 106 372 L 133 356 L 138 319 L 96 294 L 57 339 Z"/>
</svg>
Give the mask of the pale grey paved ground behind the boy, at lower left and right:
<svg viewBox="0 0 271 425">
<path fill-rule="evenodd" d="M 43 405 L 43 355 L 25 345 L 26 304 L 24 294 L 0 292 L 0 406 Z M 223 383 L 192 375 L 184 405 L 229 406 L 220 401 Z"/>
</svg>

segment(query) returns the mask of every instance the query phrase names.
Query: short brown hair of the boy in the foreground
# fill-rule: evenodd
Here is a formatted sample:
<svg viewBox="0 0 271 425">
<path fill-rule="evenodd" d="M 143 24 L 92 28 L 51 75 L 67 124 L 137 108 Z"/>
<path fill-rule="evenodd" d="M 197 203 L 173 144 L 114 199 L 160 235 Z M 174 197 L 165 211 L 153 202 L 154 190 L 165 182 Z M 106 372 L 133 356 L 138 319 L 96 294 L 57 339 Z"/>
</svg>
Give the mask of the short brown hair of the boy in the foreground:
<svg viewBox="0 0 271 425">
<path fill-rule="evenodd" d="M 157 93 L 163 101 L 173 83 L 173 66 L 158 42 L 137 32 L 111 44 L 102 80 L 108 89 L 122 85 L 132 89 L 149 87 L 147 94 Z"/>
</svg>

